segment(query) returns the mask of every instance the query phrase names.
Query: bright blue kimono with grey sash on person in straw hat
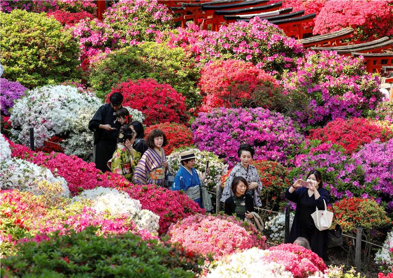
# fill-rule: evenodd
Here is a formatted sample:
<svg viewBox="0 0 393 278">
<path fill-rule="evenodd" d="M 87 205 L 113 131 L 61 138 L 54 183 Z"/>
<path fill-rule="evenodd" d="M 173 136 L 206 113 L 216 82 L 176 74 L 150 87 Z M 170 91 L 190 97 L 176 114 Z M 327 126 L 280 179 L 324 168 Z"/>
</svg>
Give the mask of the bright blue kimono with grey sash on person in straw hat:
<svg viewBox="0 0 393 278">
<path fill-rule="evenodd" d="M 181 166 L 176 173 L 171 190 L 183 190 L 190 199 L 203 208 L 200 195 L 200 180 L 195 168 L 191 168 L 190 173 L 184 166 Z"/>
</svg>

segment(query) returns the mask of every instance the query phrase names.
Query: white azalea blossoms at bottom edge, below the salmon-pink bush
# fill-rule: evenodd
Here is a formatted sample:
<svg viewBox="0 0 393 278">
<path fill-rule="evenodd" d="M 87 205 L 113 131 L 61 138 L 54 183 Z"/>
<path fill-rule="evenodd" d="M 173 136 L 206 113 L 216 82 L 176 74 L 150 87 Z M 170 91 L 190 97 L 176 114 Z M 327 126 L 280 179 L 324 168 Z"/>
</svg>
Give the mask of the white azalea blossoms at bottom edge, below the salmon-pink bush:
<svg viewBox="0 0 393 278">
<path fill-rule="evenodd" d="M 217 267 L 207 275 L 207 278 L 293 278 L 292 273 L 286 271 L 282 264 L 263 261 L 262 257 L 268 252 L 252 248 L 231 254 L 217 262 Z"/>
</svg>

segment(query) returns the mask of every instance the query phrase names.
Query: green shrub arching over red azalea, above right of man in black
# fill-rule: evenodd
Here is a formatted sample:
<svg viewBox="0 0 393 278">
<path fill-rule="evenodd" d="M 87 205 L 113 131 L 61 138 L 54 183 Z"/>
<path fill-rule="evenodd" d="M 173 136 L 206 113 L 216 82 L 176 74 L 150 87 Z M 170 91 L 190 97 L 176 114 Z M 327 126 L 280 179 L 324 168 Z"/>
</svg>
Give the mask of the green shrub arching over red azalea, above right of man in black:
<svg viewBox="0 0 393 278">
<path fill-rule="evenodd" d="M 181 48 L 170 49 L 155 42 L 126 47 L 108 55 L 93 65 L 88 83 L 104 99 L 117 83 L 145 78 L 170 84 L 187 98 L 188 107 L 200 102 L 196 86 L 198 70 L 193 60 Z"/>
</svg>

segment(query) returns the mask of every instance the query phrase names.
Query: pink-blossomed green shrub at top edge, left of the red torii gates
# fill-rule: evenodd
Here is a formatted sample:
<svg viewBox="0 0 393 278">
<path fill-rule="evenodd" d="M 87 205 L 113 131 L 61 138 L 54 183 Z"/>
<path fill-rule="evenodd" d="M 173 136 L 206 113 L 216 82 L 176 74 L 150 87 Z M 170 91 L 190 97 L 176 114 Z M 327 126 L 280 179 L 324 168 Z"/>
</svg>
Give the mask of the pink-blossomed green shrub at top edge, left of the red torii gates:
<svg viewBox="0 0 393 278">
<path fill-rule="evenodd" d="M 104 23 L 119 31 L 122 45 L 151 41 L 157 31 L 168 29 L 172 19 L 157 0 L 120 0 L 104 13 Z"/>
</svg>

